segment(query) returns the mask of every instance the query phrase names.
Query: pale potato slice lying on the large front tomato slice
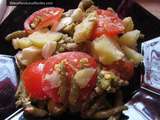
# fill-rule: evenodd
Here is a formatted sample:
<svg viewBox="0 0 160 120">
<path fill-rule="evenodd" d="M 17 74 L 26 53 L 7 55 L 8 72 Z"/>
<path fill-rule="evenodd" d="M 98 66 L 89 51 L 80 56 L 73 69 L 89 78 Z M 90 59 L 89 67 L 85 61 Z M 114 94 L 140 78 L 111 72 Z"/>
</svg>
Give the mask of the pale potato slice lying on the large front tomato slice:
<svg viewBox="0 0 160 120">
<path fill-rule="evenodd" d="M 94 68 L 84 68 L 75 74 L 74 79 L 80 88 L 85 88 L 95 72 Z"/>
</svg>

